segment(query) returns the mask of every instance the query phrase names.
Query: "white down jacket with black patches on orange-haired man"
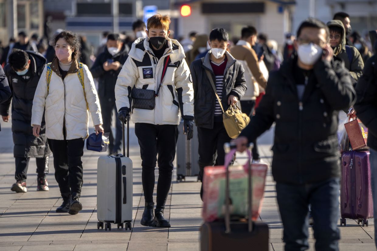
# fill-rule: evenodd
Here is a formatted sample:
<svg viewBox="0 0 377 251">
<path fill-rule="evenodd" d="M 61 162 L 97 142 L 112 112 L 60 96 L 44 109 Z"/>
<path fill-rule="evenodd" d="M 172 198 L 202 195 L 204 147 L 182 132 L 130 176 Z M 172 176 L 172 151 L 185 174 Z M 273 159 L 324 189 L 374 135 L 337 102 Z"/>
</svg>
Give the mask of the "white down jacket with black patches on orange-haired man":
<svg viewBox="0 0 377 251">
<path fill-rule="evenodd" d="M 129 57 L 118 75 L 115 85 L 116 107 L 118 110 L 123 107 L 130 109 L 134 123 L 178 125 L 180 117 L 194 118 L 192 77 L 184 60 L 183 48 L 176 40 L 167 38 L 166 41 L 164 55 L 158 60 L 149 47 L 149 38 L 138 38 L 132 44 Z M 157 92 L 164 60 L 168 55 L 170 59 L 159 95 L 155 98 L 155 109 L 133 109 L 130 106 L 132 88 L 142 89 L 144 86 Z"/>
</svg>

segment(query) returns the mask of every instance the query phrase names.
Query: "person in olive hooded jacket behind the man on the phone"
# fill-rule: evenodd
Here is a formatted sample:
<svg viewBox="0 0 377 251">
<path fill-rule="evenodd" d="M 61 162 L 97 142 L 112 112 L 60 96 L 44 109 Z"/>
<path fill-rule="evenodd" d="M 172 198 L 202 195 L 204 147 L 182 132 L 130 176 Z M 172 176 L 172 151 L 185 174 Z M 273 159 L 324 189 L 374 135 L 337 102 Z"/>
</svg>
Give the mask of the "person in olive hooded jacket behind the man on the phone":
<svg viewBox="0 0 377 251">
<path fill-rule="evenodd" d="M 351 81 L 356 86 L 357 81 L 362 76 L 363 58 L 355 47 L 346 45 L 346 32 L 340 20 L 331 20 L 327 23 L 327 26 L 330 30 L 330 46 L 333 48 L 334 57 L 344 62 L 351 75 Z"/>
</svg>

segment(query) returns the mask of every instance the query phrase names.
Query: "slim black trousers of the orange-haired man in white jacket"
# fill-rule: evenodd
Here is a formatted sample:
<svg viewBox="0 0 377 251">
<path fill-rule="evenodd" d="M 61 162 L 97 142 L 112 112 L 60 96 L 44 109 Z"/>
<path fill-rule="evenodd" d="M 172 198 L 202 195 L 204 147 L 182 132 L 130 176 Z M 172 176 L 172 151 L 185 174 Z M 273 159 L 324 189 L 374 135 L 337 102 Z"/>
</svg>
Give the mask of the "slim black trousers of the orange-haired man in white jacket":
<svg viewBox="0 0 377 251">
<path fill-rule="evenodd" d="M 173 161 L 178 139 L 178 126 L 136 123 L 141 154 L 141 181 L 145 202 L 153 202 L 155 167 L 158 162 L 156 207 L 164 207 L 172 185 Z M 158 154 L 158 159 L 157 159 Z"/>
</svg>

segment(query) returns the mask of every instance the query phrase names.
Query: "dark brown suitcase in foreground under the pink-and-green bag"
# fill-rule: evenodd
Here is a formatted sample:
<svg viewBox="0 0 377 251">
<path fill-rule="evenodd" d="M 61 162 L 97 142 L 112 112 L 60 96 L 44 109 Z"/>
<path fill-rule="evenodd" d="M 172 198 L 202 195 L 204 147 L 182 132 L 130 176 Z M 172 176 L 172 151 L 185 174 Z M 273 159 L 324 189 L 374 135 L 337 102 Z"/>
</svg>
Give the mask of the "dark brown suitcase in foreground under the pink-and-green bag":
<svg viewBox="0 0 377 251">
<path fill-rule="evenodd" d="M 233 155 L 235 153 L 235 150 L 230 151 L 229 144 L 225 144 L 224 148 L 227 154 Z M 250 149 L 248 151 L 248 155 L 251 156 Z M 251 160 L 248 159 L 248 163 L 250 162 Z M 268 225 L 263 222 L 251 221 L 251 166 L 249 165 L 248 170 L 248 219 L 231 221 L 229 214 L 229 163 L 225 164 L 227 165 L 225 222 L 206 222 L 202 225 L 200 229 L 201 251 L 229 251 L 245 248 L 252 248 L 258 251 L 268 251 Z"/>
</svg>

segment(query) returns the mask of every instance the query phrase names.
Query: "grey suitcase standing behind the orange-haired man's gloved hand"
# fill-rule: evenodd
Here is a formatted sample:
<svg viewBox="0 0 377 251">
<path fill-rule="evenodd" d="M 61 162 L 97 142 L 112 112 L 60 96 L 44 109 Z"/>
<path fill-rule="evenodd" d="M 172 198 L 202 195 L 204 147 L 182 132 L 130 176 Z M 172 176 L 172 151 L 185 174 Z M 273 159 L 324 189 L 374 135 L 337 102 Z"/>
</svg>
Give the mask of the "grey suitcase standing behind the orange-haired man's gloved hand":
<svg viewBox="0 0 377 251">
<path fill-rule="evenodd" d="M 178 127 L 177 141 L 177 181 L 185 181 L 186 177 L 199 175 L 199 141 L 198 130 L 194 126 L 193 138 L 187 140 L 187 135 L 182 131 L 183 121 Z"/>
</svg>

